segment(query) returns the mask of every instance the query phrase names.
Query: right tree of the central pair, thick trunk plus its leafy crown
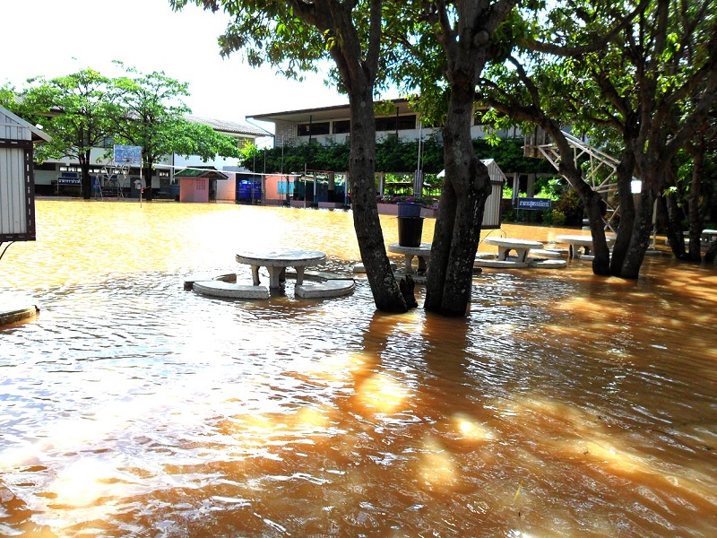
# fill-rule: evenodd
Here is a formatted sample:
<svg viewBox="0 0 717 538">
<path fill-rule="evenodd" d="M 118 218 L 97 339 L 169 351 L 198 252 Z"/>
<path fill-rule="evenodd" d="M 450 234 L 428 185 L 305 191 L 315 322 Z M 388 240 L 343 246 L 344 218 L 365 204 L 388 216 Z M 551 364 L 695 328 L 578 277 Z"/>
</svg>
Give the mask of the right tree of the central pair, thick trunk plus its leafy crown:
<svg viewBox="0 0 717 538">
<path fill-rule="evenodd" d="M 490 194 L 488 169 L 473 151 L 471 126 L 479 75 L 500 61 L 514 39 L 518 0 L 405 2 L 386 32 L 393 48 L 384 65 L 402 90 L 419 91 L 428 125 L 443 127 L 445 180 L 431 247 L 424 307 L 464 316 L 480 223 Z"/>
</svg>

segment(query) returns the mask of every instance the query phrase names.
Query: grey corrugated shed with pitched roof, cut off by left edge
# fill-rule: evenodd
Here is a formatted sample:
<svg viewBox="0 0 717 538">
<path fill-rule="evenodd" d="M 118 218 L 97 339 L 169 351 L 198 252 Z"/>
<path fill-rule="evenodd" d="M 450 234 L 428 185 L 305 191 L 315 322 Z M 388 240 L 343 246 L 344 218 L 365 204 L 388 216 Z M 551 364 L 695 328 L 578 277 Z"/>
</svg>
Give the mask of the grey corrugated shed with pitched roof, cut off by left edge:
<svg viewBox="0 0 717 538">
<path fill-rule="evenodd" d="M 33 147 L 51 140 L 0 107 L 0 243 L 35 240 Z"/>
</svg>

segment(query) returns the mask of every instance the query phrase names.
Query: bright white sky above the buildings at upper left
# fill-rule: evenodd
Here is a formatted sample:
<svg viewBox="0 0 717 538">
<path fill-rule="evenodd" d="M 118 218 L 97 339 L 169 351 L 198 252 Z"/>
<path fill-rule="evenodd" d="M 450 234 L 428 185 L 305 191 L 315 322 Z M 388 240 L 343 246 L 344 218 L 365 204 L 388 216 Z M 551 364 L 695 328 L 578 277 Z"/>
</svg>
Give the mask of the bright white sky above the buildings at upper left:
<svg viewBox="0 0 717 538">
<path fill-rule="evenodd" d="M 217 37 L 226 17 L 194 5 L 174 13 L 168 0 L 0 0 L 0 21 L 0 84 L 20 87 L 31 76 L 83 67 L 114 75 L 111 62 L 121 60 L 189 82 L 186 103 L 197 116 L 244 121 L 348 102 L 324 86 L 322 74 L 293 82 L 269 66 L 249 67 L 239 54 L 222 59 Z"/>
</svg>

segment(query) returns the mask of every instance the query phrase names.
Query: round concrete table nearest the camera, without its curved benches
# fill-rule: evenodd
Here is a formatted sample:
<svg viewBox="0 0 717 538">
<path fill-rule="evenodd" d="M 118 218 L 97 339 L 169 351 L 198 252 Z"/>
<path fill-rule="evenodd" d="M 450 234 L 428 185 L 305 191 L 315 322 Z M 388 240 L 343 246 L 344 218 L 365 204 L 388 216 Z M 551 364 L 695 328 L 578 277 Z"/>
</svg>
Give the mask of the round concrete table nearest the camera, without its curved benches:
<svg viewBox="0 0 717 538">
<path fill-rule="evenodd" d="M 296 269 L 297 285 L 301 285 L 304 283 L 304 268 L 307 265 L 321 264 L 326 260 L 326 255 L 323 252 L 300 248 L 239 252 L 235 257 L 239 264 L 251 266 L 255 286 L 259 285 L 259 267 L 266 267 L 269 270 L 270 289 L 281 287 L 281 282 L 286 277 L 287 267 Z"/>
</svg>

